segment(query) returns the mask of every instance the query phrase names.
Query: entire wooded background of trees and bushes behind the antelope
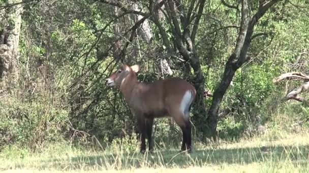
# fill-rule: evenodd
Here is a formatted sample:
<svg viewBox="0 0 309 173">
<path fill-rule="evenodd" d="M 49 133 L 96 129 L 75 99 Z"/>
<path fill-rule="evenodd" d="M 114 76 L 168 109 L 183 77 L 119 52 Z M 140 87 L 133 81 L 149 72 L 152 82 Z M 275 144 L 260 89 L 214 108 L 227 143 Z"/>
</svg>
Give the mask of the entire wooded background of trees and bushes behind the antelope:
<svg viewBox="0 0 309 173">
<path fill-rule="evenodd" d="M 196 144 L 307 133 L 308 11 L 301 0 L 0 0 L 0 151 L 135 151 L 136 119 L 105 84 L 121 63 L 139 64 L 139 81 L 193 83 Z M 153 131 L 158 147 L 181 141 L 172 119 Z"/>
</svg>

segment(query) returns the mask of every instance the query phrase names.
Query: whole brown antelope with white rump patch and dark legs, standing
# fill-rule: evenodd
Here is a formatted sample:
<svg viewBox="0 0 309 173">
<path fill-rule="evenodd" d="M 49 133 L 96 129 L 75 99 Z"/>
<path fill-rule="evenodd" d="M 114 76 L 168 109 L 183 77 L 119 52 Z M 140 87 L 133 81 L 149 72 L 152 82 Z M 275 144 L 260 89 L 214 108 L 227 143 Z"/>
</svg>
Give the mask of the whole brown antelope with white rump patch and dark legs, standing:
<svg viewBox="0 0 309 173">
<path fill-rule="evenodd" d="M 171 116 L 182 130 L 181 151 L 191 151 L 190 109 L 196 91 L 192 84 L 182 79 L 163 79 L 152 83 L 142 83 L 135 73 L 138 65 L 122 64 L 106 79 L 108 86 L 119 86 L 121 93 L 135 114 L 141 133 L 140 151 L 152 150 L 151 133 L 153 118 Z"/>
</svg>

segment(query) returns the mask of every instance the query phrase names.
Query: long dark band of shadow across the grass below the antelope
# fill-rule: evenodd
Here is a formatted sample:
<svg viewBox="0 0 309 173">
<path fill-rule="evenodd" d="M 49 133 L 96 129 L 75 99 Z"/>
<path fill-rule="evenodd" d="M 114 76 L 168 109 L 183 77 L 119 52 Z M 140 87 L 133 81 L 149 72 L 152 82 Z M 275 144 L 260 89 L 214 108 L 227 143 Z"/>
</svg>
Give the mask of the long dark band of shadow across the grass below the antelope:
<svg viewBox="0 0 309 173">
<path fill-rule="evenodd" d="M 60 170 L 100 170 L 126 169 L 138 167 L 188 167 L 220 164 L 249 164 L 252 162 L 280 163 L 291 161 L 298 166 L 308 166 L 309 145 L 275 146 L 237 149 L 195 150 L 191 154 L 178 151 L 154 151 L 152 153 L 115 153 L 81 155 L 66 159 L 47 160 L 41 164 L 43 169 Z"/>
</svg>

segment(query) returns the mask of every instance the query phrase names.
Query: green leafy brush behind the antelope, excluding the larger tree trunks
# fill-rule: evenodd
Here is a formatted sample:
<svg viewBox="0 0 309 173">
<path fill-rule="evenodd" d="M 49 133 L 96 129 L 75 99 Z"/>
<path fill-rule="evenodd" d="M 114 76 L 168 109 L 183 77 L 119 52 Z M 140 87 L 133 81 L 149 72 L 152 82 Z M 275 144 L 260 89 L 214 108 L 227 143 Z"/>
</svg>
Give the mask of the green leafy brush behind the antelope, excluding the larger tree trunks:
<svg viewBox="0 0 309 173">
<path fill-rule="evenodd" d="M 252 14 L 257 10 L 256 3 L 251 4 Z M 92 1 L 32 5 L 25 4 L 21 19 L 18 81 L 14 85 L 0 81 L 1 154 L 50 154 L 59 147 L 116 152 L 118 146 L 121 151 L 135 152 L 139 142 L 134 115 L 119 90 L 107 88 L 104 80 L 120 64 L 115 51 L 111 53 L 114 28 L 127 33 L 136 23 L 135 17 L 127 15 L 117 21 L 110 15 L 112 8 Z M 272 81 L 282 73 L 308 72 L 309 20 L 304 17 L 307 12 L 299 10 L 307 5 L 296 0 L 281 1 L 257 23 L 255 33 L 261 35 L 252 40 L 250 58 L 236 71 L 221 103 L 217 128 L 220 142 L 213 144 L 193 125 L 196 149 L 244 139 L 279 140 L 308 131 L 309 107 L 282 101 L 300 82 Z M 188 8 L 189 3 L 184 6 Z M 235 28 L 240 24 L 235 12 L 220 1 L 209 1 L 204 8 L 207 15 L 202 16 L 197 31 L 196 51 L 204 86 L 210 93 L 220 82 L 226 60 L 235 48 Z M 175 36 L 168 21 L 162 21 L 162 26 L 172 42 Z M 151 34 L 150 43 L 137 34 L 126 52 L 126 62 L 141 66 L 140 81 L 169 77 L 158 58 L 166 50 L 153 24 Z M 125 45 L 121 41 L 119 44 Z M 186 64 L 179 65 L 172 58 L 168 63 L 173 68 L 172 76 L 191 81 L 194 78 L 193 73 L 187 74 L 193 70 L 186 69 Z M 308 99 L 306 93 L 302 97 Z M 204 101 L 207 110 L 212 98 Z M 200 119 L 206 116 L 200 115 Z M 153 131 L 158 150 L 178 150 L 181 131 L 173 120 L 156 120 Z"/>
</svg>

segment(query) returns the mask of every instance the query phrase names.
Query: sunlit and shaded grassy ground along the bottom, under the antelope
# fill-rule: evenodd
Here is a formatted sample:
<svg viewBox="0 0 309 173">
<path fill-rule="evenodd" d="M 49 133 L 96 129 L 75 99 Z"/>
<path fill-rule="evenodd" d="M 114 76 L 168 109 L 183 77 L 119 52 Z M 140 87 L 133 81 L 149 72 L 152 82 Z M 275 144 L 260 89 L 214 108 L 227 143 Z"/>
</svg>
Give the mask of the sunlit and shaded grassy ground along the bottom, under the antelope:
<svg viewBox="0 0 309 173">
<path fill-rule="evenodd" d="M 191 154 L 157 148 L 143 155 L 125 152 L 123 146 L 95 151 L 63 145 L 37 154 L 11 148 L 0 156 L 0 170 L 5 172 L 309 172 L 309 134 L 196 144 Z"/>
</svg>

